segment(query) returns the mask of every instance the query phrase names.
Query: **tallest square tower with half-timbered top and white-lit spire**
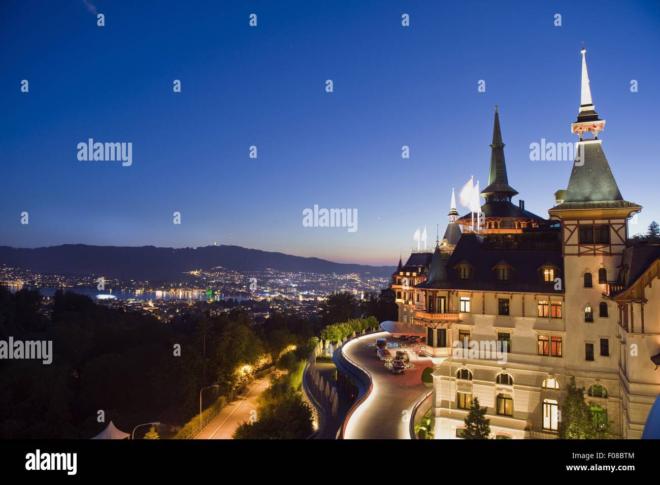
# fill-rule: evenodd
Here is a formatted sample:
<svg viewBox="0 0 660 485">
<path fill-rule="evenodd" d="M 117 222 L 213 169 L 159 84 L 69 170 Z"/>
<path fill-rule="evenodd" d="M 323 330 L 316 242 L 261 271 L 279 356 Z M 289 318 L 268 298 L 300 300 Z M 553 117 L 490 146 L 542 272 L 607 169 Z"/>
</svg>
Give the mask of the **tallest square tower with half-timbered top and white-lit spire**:
<svg viewBox="0 0 660 485">
<path fill-rule="evenodd" d="M 579 135 L 576 160 L 563 200 L 548 212 L 561 226 L 564 279 L 559 283 L 566 294 L 567 372 L 576 377 L 578 386 L 588 387 L 596 379 L 609 390 L 609 416 L 614 417 L 618 430 L 621 386 L 616 377 L 618 350 L 614 349 L 622 310 L 609 301 L 607 292 L 618 279 L 628 240 L 627 220 L 642 207 L 623 199 L 607 162 L 597 136 L 605 120 L 598 117 L 591 99 L 586 50 L 582 48 L 580 53 L 581 101 L 578 119 L 571 125 L 572 133 Z M 585 139 L 585 133 L 594 136 Z"/>
</svg>

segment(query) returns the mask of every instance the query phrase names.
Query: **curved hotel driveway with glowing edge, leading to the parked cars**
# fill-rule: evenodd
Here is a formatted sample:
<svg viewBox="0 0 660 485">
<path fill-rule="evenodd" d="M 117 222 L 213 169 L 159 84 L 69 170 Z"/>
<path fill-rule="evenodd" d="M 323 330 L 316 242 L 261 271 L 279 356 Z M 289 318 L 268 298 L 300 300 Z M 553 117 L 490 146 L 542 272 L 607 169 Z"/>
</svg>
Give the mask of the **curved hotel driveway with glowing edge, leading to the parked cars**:
<svg viewBox="0 0 660 485">
<path fill-rule="evenodd" d="M 424 368 L 433 367 L 431 359 L 411 355 L 414 368 L 403 375 L 394 375 L 376 356 L 378 337 L 385 337 L 388 342 L 406 343 L 390 333 L 379 332 L 343 346 L 344 355 L 366 368 L 374 379 L 372 393 L 348 420 L 346 439 L 410 439 L 411 412 L 429 389 L 421 377 Z"/>
</svg>

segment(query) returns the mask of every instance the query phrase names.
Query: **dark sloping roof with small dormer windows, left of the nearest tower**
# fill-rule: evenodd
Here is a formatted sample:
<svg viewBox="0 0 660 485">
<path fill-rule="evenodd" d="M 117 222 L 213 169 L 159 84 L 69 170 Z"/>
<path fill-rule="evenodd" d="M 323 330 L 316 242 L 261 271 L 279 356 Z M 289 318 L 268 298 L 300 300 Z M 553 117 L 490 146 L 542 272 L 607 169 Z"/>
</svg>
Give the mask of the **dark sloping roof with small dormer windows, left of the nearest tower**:
<svg viewBox="0 0 660 485">
<path fill-rule="evenodd" d="M 416 288 L 437 288 L 453 290 L 498 291 L 498 292 L 537 292 L 541 294 L 563 294 L 564 290 L 554 290 L 554 282 L 541 279 L 539 267 L 552 263 L 558 268 L 556 277 L 564 273 L 564 260 L 561 249 L 556 251 L 487 250 L 481 247 L 481 238 L 475 234 L 463 234 L 458 245 L 444 267 L 437 270 L 438 278 L 429 278 L 417 284 Z M 493 268 L 506 261 L 513 270 L 508 281 L 499 281 Z M 471 278 L 461 280 L 457 265 L 469 263 L 473 267 Z"/>
</svg>

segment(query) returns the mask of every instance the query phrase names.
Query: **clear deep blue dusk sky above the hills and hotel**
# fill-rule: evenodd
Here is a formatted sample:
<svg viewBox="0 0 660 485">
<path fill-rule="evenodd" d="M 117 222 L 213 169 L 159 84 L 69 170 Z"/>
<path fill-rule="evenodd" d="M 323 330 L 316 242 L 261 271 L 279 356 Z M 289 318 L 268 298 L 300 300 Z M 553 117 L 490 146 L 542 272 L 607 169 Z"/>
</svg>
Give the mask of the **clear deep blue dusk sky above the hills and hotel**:
<svg viewBox="0 0 660 485">
<path fill-rule="evenodd" d="M 0 245 L 231 237 L 395 265 L 418 226 L 442 236 L 452 186 L 486 185 L 496 104 L 513 202 L 547 216 L 571 164 L 529 144 L 576 141 L 581 42 L 603 149 L 644 206 L 630 232 L 660 220 L 658 2 L 315 3 L 3 1 Z M 133 165 L 79 161 L 89 138 L 133 143 Z M 358 230 L 304 227 L 314 204 L 357 209 Z"/>
</svg>

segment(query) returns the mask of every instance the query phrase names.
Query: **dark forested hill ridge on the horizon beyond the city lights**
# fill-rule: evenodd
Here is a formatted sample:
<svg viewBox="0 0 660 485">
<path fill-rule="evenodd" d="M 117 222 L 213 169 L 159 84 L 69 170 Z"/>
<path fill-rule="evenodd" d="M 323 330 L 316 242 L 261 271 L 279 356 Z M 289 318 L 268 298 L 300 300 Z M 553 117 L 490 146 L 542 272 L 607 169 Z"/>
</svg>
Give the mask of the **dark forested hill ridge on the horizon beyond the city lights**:
<svg viewBox="0 0 660 485">
<path fill-rule="evenodd" d="M 181 280 L 182 273 L 222 266 L 236 271 L 266 268 L 297 273 L 360 273 L 387 276 L 393 266 L 333 263 L 316 257 L 271 253 L 240 246 L 128 247 L 64 244 L 35 249 L 0 246 L 0 265 L 57 275 L 104 275 L 136 280 Z"/>
</svg>

